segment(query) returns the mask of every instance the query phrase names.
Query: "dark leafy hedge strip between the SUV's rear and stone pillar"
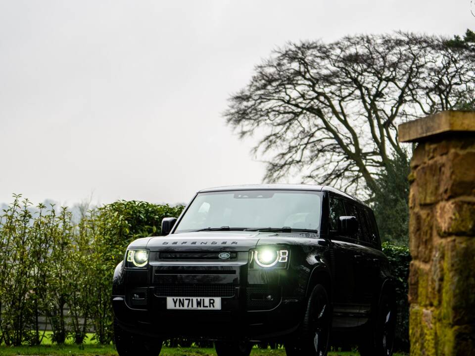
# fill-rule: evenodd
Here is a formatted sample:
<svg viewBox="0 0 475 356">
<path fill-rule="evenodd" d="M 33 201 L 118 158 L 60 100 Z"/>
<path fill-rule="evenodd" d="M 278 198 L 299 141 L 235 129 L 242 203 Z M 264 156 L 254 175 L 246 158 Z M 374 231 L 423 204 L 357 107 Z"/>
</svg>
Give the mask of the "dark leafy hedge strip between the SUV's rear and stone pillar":
<svg viewBox="0 0 475 356">
<path fill-rule="evenodd" d="M 395 246 L 388 242 L 382 244 L 382 251 L 387 256 L 396 279 L 396 300 L 398 305 L 396 348 L 400 351 L 409 352 L 409 264 L 411 255 L 409 248 Z"/>
</svg>

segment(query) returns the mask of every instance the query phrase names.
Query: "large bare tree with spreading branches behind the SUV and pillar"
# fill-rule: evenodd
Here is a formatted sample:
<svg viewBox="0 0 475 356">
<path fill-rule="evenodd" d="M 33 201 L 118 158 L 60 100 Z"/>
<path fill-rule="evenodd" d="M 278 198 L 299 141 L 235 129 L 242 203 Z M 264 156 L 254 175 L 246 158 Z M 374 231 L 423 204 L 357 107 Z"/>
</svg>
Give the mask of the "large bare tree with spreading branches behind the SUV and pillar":
<svg viewBox="0 0 475 356">
<path fill-rule="evenodd" d="M 473 47 L 401 32 L 291 43 L 256 66 L 225 117 L 240 137 L 260 135 L 266 181 L 371 197 L 391 161 L 407 159 L 400 122 L 475 103 L 474 59 Z"/>
</svg>

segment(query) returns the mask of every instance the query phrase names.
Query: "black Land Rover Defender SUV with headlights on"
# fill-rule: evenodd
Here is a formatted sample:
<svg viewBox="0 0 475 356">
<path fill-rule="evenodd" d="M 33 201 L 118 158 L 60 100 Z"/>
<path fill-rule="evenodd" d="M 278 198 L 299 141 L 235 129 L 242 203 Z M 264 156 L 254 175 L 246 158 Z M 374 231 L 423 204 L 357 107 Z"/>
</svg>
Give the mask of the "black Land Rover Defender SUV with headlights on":
<svg viewBox="0 0 475 356">
<path fill-rule="evenodd" d="M 159 355 L 175 337 L 214 340 L 218 356 L 265 341 L 324 356 L 331 334 L 361 355 L 392 354 L 391 270 L 372 210 L 351 196 L 317 185 L 205 189 L 162 233 L 132 242 L 115 269 L 120 356 Z"/>
</svg>

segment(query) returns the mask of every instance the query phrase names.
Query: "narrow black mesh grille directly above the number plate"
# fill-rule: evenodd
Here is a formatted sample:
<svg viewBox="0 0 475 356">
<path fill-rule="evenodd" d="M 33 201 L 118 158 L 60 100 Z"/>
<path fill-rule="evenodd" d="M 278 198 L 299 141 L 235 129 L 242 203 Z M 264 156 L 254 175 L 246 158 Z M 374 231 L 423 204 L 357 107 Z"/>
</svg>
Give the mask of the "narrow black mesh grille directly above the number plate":
<svg viewBox="0 0 475 356">
<path fill-rule="evenodd" d="M 232 284 L 160 284 L 155 287 L 157 297 L 234 297 Z"/>
</svg>

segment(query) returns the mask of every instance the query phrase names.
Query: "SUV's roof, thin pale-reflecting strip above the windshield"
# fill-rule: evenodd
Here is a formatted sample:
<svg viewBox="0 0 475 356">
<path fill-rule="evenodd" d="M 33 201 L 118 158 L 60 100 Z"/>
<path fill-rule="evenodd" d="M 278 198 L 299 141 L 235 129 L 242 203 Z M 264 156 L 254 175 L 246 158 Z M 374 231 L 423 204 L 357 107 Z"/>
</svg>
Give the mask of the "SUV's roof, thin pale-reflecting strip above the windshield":
<svg viewBox="0 0 475 356">
<path fill-rule="evenodd" d="M 342 195 L 348 199 L 355 200 L 364 204 L 360 200 L 351 195 L 342 192 L 336 188 L 328 185 L 313 185 L 313 184 L 246 184 L 246 185 L 227 185 L 214 188 L 201 189 L 198 193 L 207 193 L 215 191 L 230 191 L 230 190 L 315 190 L 315 191 L 329 191 L 335 194 Z"/>
</svg>

